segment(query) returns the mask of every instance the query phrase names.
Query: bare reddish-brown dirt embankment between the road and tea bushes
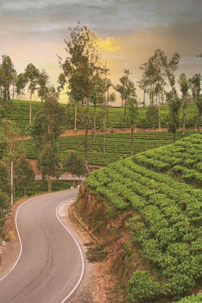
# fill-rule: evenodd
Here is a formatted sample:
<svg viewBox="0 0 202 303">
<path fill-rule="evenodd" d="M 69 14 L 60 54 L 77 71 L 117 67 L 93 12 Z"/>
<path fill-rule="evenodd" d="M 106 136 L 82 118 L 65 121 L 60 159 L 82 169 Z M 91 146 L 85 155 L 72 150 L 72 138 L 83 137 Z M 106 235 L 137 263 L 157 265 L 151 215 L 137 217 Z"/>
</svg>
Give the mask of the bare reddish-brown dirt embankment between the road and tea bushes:
<svg viewBox="0 0 202 303">
<path fill-rule="evenodd" d="M 125 284 L 132 272 L 135 269 L 144 270 L 147 264 L 131 244 L 125 225 L 133 211 L 117 212 L 110 209 L 108 203 L 82 184 L 74 212 L 84 222 L 88 232 L 98 239 L 99 245 L 89 248 L 89 256 L 95 260 L 98 257 L 99 271 L 105 277 L 103 291 L 108 302 L 119 303 L 123 302 Z M 106 253 L 103 261 L 99 260 L 99 248 L 101 253 Z"/>
</svg>

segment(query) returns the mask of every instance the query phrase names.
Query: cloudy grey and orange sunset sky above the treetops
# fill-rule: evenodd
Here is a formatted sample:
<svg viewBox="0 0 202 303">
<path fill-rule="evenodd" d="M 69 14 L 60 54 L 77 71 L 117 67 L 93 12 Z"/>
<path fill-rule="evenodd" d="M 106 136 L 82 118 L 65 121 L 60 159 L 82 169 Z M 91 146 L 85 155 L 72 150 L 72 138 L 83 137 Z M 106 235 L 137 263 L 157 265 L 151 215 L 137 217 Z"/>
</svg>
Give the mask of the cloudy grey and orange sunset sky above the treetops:
<svg viewBox="0 0 202 303">
<path fill-rule="evenodd" d="M 29 63 L 44 68 L 57 86 L 61 69 L 56 54 L 67 57 L 64 39 L 78 20 L 98 43 L 114 85 L 124 68 L 136 83 L 138 67 L 157 48 L 168 58 L 179 52 L 176 76 L 202 73 L 202 58 L 197 58 L 202 52 L 201 0 L 0 0 L 0 55 L 11 57 L 17 73 Z M 136 90 L 142 101 L 143 92 Z M 66 103 L 67 95 L 60 102 Z M 119 98 L 116 105 L 121 105 Z"/>
</svg>

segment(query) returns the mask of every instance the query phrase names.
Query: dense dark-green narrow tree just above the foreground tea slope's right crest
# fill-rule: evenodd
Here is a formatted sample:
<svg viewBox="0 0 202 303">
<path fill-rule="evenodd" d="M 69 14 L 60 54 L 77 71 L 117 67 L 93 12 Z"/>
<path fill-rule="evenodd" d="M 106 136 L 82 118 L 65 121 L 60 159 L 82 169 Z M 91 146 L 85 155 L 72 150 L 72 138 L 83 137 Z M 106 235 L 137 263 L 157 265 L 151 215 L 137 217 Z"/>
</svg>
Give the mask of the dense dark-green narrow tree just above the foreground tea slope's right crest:
<svg viewBox="0 0 202 303">
<path fill-rule="evenodd" d="M 173 141 L 176 141 L 176 131 L 180 126 L 180 107 L 182 102 L 180 98 L 175 95 L 173 99 L 170 99 L 168 102 L 168 106 L 170 108 L 169 116 L 167 117 L 168 120 L 168 131 L 173 133 Z"/>
</svg>

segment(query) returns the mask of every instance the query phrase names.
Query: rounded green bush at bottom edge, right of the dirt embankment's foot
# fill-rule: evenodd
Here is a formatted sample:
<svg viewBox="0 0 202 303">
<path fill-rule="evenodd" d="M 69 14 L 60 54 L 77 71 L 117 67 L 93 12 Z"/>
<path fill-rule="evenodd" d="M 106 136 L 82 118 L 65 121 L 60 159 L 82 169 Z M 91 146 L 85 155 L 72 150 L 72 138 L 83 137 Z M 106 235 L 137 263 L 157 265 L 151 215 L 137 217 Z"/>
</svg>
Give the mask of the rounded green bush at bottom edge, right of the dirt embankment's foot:
<svg viewBox="0 0 202 303">
<path fill-rule="evenodd" d="M 160 288 L 159 283 L 151 279 L 149 271 L 135 271 L 126 286 L 128 298 L 135 303 L 154 299 Z"/>
</svg>

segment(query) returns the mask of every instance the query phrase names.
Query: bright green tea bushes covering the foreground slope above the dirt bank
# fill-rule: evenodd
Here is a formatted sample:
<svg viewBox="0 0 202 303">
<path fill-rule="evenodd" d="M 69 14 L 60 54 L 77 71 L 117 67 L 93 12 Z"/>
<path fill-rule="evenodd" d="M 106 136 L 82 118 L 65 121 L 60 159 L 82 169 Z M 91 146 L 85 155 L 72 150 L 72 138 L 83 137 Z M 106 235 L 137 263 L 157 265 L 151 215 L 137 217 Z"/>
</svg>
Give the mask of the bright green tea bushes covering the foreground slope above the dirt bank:
<svg viewBox="0 0 202 303">
<path fill-rule="evenodd" d="M 202 191 L 147 169 L 147 163 L 155 164 L 155 169 L 160 171 L 172 170 L 169 165 L 176 165 L 177 161 L 201 169 L 200 145 L 201 135 L 193 135 L 174 145 L 118 161 L 86 179 L 87 186 L 102 194 L 109 205 L 119 211 L 134 209 L 137 218 L 128 222 L 131 239 L 151 265 L 151 274 L 154 268 L 161 295 L 177 296 L 191 291 L 202 276 Z M 178 153 L 168 163 L 175 148 Z M 190 158 L 193 152 L 195 155 Z M 140 166 L 143 161 L 146 167 Z M 113 195 L 121 207 L 113 202 Z"/>
</svg>

